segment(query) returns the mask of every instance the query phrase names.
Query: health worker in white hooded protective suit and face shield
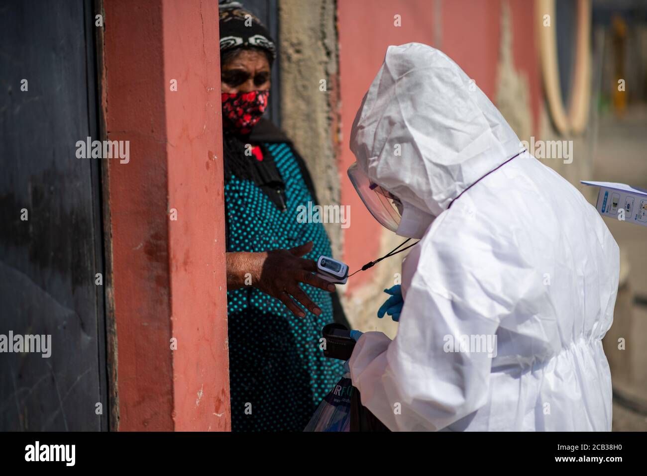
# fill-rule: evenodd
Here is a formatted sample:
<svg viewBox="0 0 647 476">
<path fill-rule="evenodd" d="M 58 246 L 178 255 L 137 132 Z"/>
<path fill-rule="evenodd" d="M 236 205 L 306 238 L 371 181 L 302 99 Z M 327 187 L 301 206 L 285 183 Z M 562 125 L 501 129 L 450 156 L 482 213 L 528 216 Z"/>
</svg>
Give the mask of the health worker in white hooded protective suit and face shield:
<svg viewBox="0 0 647 476">
<path fill-rule="evenodd" d="M 421 239 L 397 337 L 349 360 L 362 404 L 393 431 L 610 431 L 619 248 L 595 208 L 419 43 L 387 50 L 351 150 L 371 213 Z"/>
</svg>

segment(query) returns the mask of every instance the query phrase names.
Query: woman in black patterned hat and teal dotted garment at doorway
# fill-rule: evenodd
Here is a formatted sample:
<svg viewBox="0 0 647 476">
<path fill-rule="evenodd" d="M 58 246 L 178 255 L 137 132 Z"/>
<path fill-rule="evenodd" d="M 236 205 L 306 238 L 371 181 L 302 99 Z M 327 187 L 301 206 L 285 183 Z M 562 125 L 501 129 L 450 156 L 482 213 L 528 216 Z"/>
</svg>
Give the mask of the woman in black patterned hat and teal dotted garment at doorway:
<svg viewBox="0 0 647 476">
<path fill-rule="evenodd" d="M 313 274 L 330 242 L 322 224 L 297 221 L 316 202 L 312 180 L 261 118 L 274 42 L 237 3 L 219 23 L 232 430 L 302 431 L 343 373 L 319 348 L 333 315 L 345 321 L 334 285 Z"/>
</svg>

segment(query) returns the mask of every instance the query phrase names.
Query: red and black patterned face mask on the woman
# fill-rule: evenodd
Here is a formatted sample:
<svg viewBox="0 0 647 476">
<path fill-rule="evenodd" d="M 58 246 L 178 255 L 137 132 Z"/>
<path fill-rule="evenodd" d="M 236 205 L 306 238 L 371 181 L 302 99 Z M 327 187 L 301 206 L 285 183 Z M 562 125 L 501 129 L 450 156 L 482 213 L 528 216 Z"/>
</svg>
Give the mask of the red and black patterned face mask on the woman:
<svg viewBox="0 0 647 476">
<path fill-rule="evenodd" d="M 267 109 L 270 91 L 223 92 L 223 128 L 249 134 Z"/>
</svg>

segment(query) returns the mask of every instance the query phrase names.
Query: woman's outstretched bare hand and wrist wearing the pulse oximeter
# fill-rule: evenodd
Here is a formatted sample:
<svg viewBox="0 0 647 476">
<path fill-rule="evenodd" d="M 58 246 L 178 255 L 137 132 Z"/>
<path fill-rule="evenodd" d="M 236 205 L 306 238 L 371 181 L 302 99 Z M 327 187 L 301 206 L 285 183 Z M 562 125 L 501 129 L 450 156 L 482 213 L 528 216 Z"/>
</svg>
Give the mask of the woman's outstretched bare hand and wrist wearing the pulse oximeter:
<svg viewBox="0 0 647 476">
<path fill-rule="evenodd" d="M 302 258 L 312 249 L 313 242 L 309 241 L 289 250 L 227 253 L 227 288 L 232 290 L 252 285 L 265 294 L 279 299 L 295 316 L 300 318 L 305 316 L 296 302 L 318 316 L 322 312 L 321 309 L 303 292 L 299 283 L 328 292 L 333 292 L 335 287 L 332 283 L 313 274 L 317 269 L 315 261 Z"/>
</svg>

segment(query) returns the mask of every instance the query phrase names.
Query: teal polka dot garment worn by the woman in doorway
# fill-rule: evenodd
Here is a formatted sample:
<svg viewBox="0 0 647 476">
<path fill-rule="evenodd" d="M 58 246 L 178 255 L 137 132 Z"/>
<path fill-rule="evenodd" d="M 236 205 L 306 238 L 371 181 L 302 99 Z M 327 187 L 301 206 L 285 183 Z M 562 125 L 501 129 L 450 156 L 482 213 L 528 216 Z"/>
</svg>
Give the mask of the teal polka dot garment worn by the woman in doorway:
<svg viewBox="0 0 647 476">
<path fill-rule="evenodd" d="M 314 201 L 289 144 L 263 144 L 285 182 L 281 211 L 250 180 L 225 183 L 228 251 L 261 252 L 313 241 L 305 255 L 331 255 L 320 223 L 299 223 L 299 205 Z M 329 293 L 303 290 L 322 310 L 296 318 L 253 287 L 227 292 L 232 431 L 303 431 L 316 407 L 342 378 L 343 363 L 320 350 L 322 327 L 333 322 Z"/>
</svg>

